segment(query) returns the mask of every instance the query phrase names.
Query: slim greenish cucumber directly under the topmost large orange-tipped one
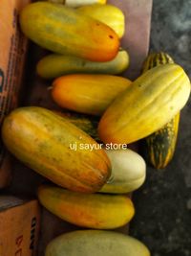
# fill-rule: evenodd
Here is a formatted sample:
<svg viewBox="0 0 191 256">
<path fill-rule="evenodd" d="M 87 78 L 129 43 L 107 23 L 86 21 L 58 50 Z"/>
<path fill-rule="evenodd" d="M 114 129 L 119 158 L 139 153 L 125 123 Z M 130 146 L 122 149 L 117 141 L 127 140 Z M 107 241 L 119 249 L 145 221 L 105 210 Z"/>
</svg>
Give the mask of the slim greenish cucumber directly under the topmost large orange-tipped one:
<svg viewBox="0 0 191 256">
<path fill-rule="evenodd" d="M 40 77 L 54 79 L 73 73 L 116 75 L 125 71 L 128 66 L 129 54 L 125 50 L 120 50 L 116 58 L 104 62 L 52 54 L 40 59 L 36 70 Z"/>
</svg>

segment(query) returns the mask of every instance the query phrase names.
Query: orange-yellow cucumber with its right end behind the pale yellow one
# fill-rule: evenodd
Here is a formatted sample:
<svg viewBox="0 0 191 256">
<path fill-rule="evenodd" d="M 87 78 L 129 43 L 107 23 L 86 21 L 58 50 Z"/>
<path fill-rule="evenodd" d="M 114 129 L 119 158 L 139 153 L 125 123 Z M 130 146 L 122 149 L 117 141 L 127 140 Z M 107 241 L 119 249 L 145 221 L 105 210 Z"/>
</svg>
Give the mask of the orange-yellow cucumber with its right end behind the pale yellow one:
<svg viewBox="0 0 191 256">
<path fill-rule="evenodd" d="M 53 101 L 76 112 L 101 115 L 132 81 L 112 75 L 74 74 L 53 81 Z"/>
</svg>

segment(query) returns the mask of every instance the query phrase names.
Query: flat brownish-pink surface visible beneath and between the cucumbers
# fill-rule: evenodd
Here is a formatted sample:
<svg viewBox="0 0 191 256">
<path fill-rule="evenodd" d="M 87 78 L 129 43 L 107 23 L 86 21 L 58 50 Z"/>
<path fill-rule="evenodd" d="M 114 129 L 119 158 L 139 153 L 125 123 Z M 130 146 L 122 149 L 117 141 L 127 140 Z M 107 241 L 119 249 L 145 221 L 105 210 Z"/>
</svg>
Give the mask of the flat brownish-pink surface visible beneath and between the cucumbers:
<svg viewBox="0 0 191 256">
<path fill-rule="evenodd" d="M 140 72 L 142 61 L 148 53 L 152 0 L 111 0 L 108 3 L 116 5 L 125 13 L 126 32 L 121 40 L 121 46 L 129 52 L 131 64 L 123 76 L 136 79 Z M 50 91 L 47 89 L 51 85 L 51 81 L 43 81 L 35 73 L 37 60 L 45 54 L 45 51 L 42 51 L 33 44 L 31 45 L 26 70 L 25 89 L 23 92 L 23 105 L 40 105 L 59 109 L 53 103 Z M 17 160 L 12 159 L 12 162 L 14 164 L 12 170 L 13 178 L 8 191 L 11 194 L 16 193 L 17 195 L 35 195 L 37 186 L 46 181 L 46 179 L 37 175 L 29 168 L 24 167 Z M 61 221 L 43 209 L 38 256 L 44 255 L 46 245 L 54 237 L 75 229 L 79 228 L 65 221 Z M 128 226 L 125 225 L 117 229 L 117 231 L 127 233 Z"/>
</svg>

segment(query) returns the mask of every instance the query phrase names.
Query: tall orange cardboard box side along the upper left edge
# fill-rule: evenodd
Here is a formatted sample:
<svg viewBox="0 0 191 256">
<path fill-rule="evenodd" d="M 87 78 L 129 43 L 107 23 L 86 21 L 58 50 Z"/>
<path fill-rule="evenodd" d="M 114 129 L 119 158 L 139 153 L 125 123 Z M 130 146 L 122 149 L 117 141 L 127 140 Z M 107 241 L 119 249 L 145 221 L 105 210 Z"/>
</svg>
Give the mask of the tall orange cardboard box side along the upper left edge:
<svg viewBox="0 0 191 256">
<path fill-rule="evenodd" d="M 27 50 L 18 16 L 30 0 L 1 0 L 0 17 L 0 126 L 4 117 L 18 105 L 18 94 Z M 11 180 L 11 160 L 0 139 L 0 188 Z"/>
</svg>

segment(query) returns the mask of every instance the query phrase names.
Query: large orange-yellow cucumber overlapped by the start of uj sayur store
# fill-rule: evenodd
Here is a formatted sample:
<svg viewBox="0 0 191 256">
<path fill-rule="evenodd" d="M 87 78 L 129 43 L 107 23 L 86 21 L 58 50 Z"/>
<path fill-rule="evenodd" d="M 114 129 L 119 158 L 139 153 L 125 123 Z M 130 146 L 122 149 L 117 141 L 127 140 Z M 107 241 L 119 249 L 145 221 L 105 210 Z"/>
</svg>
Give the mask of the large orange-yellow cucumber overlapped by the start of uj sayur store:
<svg viewBox="0 0 191 256">
<path fill-rule="evenodd" d="M 21 162 L 70 190 L 96 192 L 111 175 L 110 160 L 96 141 L 46 108 L 13 110 L 4 120 L 2 138 Z"/>
</svg>

